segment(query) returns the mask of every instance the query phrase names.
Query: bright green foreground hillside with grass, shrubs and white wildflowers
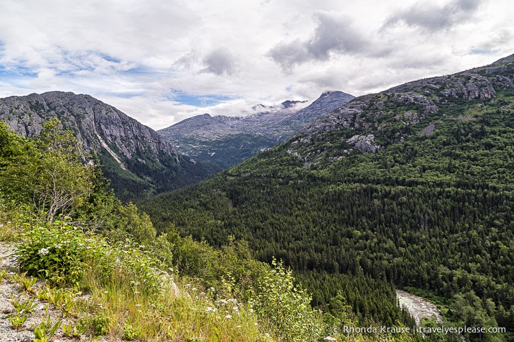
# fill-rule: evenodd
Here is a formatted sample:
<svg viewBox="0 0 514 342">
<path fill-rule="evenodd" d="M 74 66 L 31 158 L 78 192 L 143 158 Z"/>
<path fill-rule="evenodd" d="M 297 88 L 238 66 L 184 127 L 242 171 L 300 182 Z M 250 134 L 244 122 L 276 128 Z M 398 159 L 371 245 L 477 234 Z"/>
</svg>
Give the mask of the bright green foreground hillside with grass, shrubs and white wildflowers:
<svg viewBox="0 0 514 342">
<path fill-rule="evenodd" d="M 157 235 L 60 126 L 53 118 L 26 138 L 0 122 L 2 339 L 341 341 L 341 317 L 359 324 L 343 298 L 313 308 L 291 269 L 256 261 L 244 240 L 212 248 L 173 226 Z M 395 326 L 412 323 L 399 312 Z M 352 341 L 420 340 L 374 328 Z"/>
</svg>

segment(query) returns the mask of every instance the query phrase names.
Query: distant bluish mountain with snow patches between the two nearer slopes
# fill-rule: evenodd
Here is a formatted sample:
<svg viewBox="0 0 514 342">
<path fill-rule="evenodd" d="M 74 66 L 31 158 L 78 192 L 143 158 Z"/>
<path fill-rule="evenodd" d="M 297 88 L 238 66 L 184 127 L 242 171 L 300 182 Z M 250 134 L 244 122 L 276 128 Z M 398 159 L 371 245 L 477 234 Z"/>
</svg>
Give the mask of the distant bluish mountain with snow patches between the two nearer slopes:
<svg viewBox="0 0 514 342">
<path fill-rule="evenodd" d="M 344 92 L 325 92 L 308 105 L 285 101 L 279 106 L 256 105 L 244 117 L 210 116 L 188 118 L 158 131 L 180 153 L 225 170 L 285 141 L 319 116 L 340 107 L 354 96 Z"/>
</svg>

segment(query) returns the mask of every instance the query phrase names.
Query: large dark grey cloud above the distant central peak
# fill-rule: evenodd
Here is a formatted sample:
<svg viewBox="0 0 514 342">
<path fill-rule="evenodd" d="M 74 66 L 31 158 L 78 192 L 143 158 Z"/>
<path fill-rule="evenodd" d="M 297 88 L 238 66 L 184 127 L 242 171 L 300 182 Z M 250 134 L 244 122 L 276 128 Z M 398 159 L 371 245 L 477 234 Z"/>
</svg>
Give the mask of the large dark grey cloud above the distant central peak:
<svg viewBox="0 0 514 342">
<path fill-rule="evenodd" d="M 317 27 L 310 38 L 304 42 L 279 42 L 269 50 L 269 57 L 287 73 L 298 64 L 327 61 L 332 55 L 362 54 L 371 47 L 371 41 L 354 27 L 354 21 L 349 16 L 320 11 L 314 19 Z"/>
</svg>

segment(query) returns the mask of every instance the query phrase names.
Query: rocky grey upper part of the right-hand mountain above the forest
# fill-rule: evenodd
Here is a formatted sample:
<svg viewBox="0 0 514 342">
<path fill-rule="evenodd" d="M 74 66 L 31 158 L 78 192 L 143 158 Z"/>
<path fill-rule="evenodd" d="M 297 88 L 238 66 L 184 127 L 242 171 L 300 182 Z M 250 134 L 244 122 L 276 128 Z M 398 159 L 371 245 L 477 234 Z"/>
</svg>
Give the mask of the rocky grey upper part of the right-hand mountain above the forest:
<svg viewBox="0 0 514 342">
<path fill-rule="evenodd" d="M 498 92 L 514 88 L 513 81 L 514 55 L 490 66 L 360 96 L 298 131 L 289 140 L 288 151 L 304 159 L 306 166 L 331 163 L 355 151 L 376 153 L 381 146 L 415 134 L 429 135 L 445 116 L 471 118 L 470 105 L 480 108 L 495 101 Z"/>
</svg>

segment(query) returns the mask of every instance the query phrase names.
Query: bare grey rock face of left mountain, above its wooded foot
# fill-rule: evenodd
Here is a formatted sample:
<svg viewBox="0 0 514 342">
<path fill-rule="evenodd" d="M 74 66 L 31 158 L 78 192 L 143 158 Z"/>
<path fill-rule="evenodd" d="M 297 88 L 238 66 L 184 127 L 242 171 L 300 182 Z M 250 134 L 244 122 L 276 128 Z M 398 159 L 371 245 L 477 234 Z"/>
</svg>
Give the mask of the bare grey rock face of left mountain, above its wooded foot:
<svg viewBox="0 0 514 342">
<path fill-rule="evenodd" d="M 53 116 L 75 131 L 86 148 L 99 150 L 103 142 L 116 150 L 119 158 L 131 159 L 141 153 L 158 159 L 159 153 L 167 153 L 178 161 L 173 146 L 156 131 L 89 95 L 47 92 L 0 100 L 0 118 L 21 135 L 38 134 L 42 122 Z"/>
</svg>

